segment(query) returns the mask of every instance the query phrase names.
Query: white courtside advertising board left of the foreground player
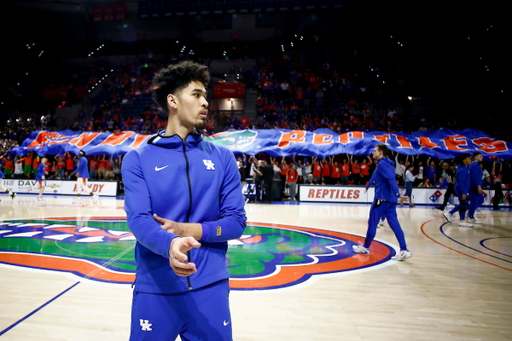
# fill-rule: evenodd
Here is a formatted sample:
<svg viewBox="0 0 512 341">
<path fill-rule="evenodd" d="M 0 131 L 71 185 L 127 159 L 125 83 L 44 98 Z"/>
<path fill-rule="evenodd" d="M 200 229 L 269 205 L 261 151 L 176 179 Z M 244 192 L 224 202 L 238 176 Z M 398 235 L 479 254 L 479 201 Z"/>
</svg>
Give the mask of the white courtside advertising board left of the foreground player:
<svg viewBox="0 0 512 341">
<path fill-rule="evenodd" d="M 3 187 L 16 193 L 33 193 L 38 194 L 39 182 L 36 180 L 27 179 L 2 179 Z M 46 180 L 43 181 L 45 185 L 45 194 L 68 194 L 76 195 L 76 180 L 75 181 L 62 181 L 62 180 Z M 117 195 L 117 181 L 88 181 L 87 186 L 92 191 L 100 196 Z"/>
</svg>

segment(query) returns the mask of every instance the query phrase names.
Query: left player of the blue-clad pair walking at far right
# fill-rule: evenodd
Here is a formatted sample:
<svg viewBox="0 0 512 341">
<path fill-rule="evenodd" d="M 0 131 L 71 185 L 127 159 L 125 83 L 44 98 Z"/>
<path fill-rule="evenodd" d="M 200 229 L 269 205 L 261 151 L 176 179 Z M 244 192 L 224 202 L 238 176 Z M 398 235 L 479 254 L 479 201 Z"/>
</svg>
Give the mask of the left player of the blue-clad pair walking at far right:
<svg viewBox="0 0 512 341">
<path fill-rule="evenodd" d="M 459 198 L 459 204 L 455 206 L 450 212 L 443 213 L 443 216 L 447 222 L 451 223 L 450 218 L 452 214 L 459 212 L 459 226 L 473 227 L 473 225 L 465 221 L 469 199 L 469 187 L 471 184 L 469 177 L 469 165 L 471 164 L 471 157 L 469 154 L 464 154 L 459 156 L 459 158 L 461 161 L 459 162 L 459 167 L 457 167 L 454 187 L 455 194 Z"/>
</svg>

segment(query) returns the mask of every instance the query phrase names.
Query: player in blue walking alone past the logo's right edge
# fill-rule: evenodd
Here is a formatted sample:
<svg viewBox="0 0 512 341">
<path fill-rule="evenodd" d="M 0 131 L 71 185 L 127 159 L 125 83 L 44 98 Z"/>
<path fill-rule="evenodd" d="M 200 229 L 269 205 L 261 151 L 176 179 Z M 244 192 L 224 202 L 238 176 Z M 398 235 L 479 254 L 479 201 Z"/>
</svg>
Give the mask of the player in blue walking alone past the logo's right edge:
<svg viewBox="0 0 512 341">
<path fill-rule="evenodd" d="M 370 209 L 370 218 L 368 220 L 368 231 L 366 232 L 366 240 L 363 245 L 352 245 L 355 253 L 370 254 L 370 245 L 377 233 L 377 224 L 381 217 L 386 217 L 389 227 L 393 230 L 398 243 L 400 244 L 400 252 L 395 255 L 393 260 L 404 260 L 411 257 L 411 253 L 407 250 L 405 236 L 398 217 L 396 215 L 396 205 L 398 199 L 408 201 L 409 197 L 400 195 L 398 185 L 395 180 L 395 163 L 387 156 L 389 149 L 385 144 L 378 144 L 373 150 L 373 159 L 376 160 L 377 168 L 372 174 L 368 185 L 366 185 L 365 193 L 368 188 L 375 182 L 375 199 Z"/>
</svg>

